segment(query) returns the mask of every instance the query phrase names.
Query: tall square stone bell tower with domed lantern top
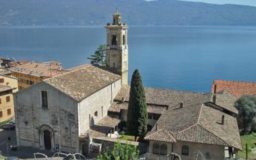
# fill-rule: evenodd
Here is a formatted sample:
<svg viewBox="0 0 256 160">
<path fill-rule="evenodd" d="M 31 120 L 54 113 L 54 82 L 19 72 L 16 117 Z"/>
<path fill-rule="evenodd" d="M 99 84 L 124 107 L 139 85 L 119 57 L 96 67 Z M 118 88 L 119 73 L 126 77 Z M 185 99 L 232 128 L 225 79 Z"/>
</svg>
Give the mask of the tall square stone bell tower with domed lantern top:
<svg viewBox="0 0 256 160">
<path fill-rule="evenodd" d="M 122 76 L 122 85 L 128 85 L 127 24 L 122 24 L 121 14 L 113 14 L 113 23 L 106 28 L 106 68 Z"/>
</svg>

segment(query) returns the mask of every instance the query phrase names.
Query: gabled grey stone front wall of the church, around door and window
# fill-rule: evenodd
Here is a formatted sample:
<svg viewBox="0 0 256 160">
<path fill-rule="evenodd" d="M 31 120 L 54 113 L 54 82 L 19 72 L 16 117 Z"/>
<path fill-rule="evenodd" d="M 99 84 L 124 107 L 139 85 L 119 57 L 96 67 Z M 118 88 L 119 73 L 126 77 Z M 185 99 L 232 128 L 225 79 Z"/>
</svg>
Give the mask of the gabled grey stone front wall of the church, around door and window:
<svg viewBox="0 0 256 160">
<path fill-rule="evenodd" d="M 48 108 L 41 107 L 41 92 L 48 93 Z M 15 97 L 17 143 L 44 149 L 44 129 L 51 132 L 51 150 L 78 151 L 77 102 L 51 85 L 41 82 L 18 91 Z"/>
</svg>

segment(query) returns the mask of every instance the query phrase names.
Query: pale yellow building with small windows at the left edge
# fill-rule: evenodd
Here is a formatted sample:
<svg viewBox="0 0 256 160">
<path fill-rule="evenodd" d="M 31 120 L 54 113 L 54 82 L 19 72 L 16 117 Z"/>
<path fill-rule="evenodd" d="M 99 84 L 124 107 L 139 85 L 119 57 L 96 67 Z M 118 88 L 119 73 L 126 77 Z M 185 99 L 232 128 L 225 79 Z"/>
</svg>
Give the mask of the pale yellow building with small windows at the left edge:
<svg viewBox="0 0 256 160">
<path fill-rule="evenodd" d="M 18 79 L 0 75 L 0 122 L 14 116 L 13 94 L 18 91 Z"/>
</svg>

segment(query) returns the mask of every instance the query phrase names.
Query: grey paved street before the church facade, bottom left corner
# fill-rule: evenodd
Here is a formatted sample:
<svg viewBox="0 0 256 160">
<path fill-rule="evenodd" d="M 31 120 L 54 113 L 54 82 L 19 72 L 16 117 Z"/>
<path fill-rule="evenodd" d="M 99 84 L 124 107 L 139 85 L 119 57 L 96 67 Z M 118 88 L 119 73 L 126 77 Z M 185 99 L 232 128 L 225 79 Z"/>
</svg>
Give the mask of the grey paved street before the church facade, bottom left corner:
<svg viewBox="0 0 256 160">
<path fill-rule="evenodd" d="M 8 141 L 8 136 L 11 137 L 11 141 Z M 15 130 L 2 130 L 0 129 L 0 151 L 2 155 L 9 155 L 13 157 L 19 157 L 21 159 L 34 159 L 34 153 L 44 153 L 48 157 L 52 157 L 54 153 L 50 151 L 43 151 L 39 149 L 33 149 L 32 147 L 18 147 L 17 151 L 7 150 L 7 144 L 16 145 Z M 42 157 L 42 156 L 38 156 Z"/>
</svg>

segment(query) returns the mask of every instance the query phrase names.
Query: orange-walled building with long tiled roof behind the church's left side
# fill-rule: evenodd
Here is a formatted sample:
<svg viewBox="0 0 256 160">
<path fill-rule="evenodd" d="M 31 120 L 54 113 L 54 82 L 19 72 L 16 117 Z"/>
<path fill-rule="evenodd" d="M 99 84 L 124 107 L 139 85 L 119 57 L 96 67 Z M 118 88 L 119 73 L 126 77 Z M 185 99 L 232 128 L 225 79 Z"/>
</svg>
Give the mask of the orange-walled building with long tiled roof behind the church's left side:
<svg viewBox="0 0 256 160">
<path fill-rule="evenodd" d="M 62 69 L 61 63 L 54 61 L 48 63 L 16 63 L 15 67 L 11 67 L 8 70 L 11 71 L 13 77 L 18 78 L 19 90 L 39 83 L 43 79 L 67 72 Z"/>
</svg>

